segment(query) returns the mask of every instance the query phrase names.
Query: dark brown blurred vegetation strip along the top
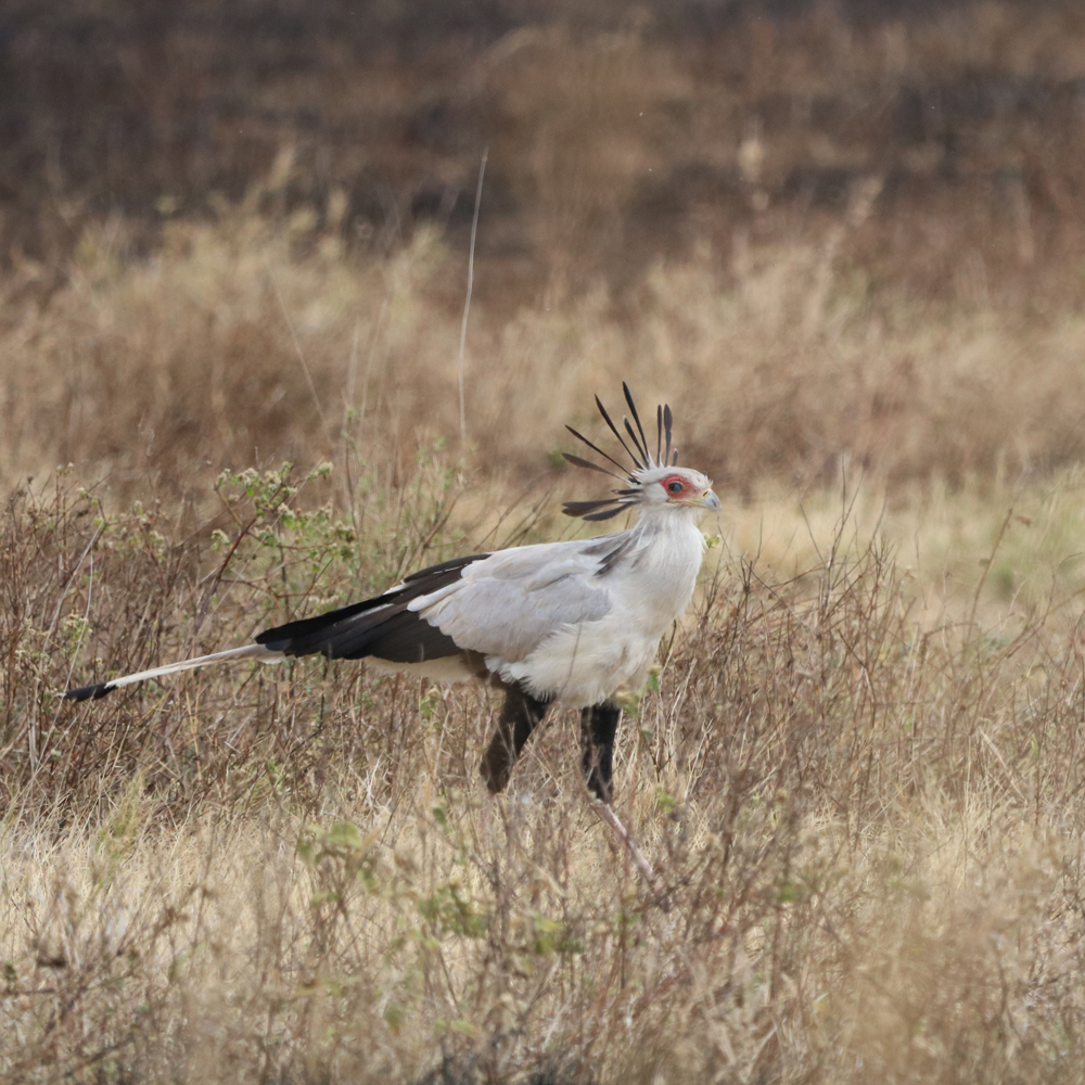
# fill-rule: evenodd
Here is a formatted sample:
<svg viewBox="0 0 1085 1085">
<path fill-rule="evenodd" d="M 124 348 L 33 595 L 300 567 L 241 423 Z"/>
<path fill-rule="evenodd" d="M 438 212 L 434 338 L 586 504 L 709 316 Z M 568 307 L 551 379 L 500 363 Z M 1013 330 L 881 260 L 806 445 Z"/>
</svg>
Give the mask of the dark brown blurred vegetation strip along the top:
<svg viewBox="0 0 1085 1085">
<path fill-rule="evenodd" d="M 583 58 L 629 34 L 641 79 L 623 101 Z M 883 190 L 850 244 L 878 282 L 944 289 L 967 244 L 990 289 L 1049 295 L 1043 269 L 1082 254 L 1083 41 L 1085 13 L 1057 0 L 9 3 L 0 255 L 60 260 L 112 213 L 153 245 L 164 208 L 240 197 L 285 143 L 286 208 L 323 215 L 342 187 L 354 244 L 438 219 L 463 245 L 489 146 L 480 252 L 526 277 L 515 301 L 562 258 L 627 283 L 698 238 L 809 229 L 869 175 Z M 756 177 L 736 155 L 752 133 L 768 149 Z M 547 188 L 548 135 L 573 139 L 549 164 L 583 173 L 570 191 Z M 585 165 L 615 140 L 616 173 Z M 1042 283 L 1022 285 L 1022 264 Z"/>
</svg>

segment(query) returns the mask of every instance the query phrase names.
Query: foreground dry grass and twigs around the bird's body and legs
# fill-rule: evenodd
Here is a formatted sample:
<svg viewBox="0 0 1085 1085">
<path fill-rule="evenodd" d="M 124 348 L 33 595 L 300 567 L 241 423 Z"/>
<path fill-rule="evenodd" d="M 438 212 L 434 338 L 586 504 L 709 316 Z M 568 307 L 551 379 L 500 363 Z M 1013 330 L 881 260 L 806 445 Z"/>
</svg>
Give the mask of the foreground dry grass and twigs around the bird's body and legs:
<svg viewBox="0 0 1085 1085">
<path fill-rule="evenodd" d="M 924 629 L 846 506 L 796 577 L 717 547 L 622 729 L 664 910 L 571 714 L 494 800 L 473 687 L 299 661 L 52 699 L 458 541 L 441 462 L 360 484 L 358 527 L 293 485 L 224 478 L 204 538 L 67 481 L 8 506 L 7 1080 L 1076 1080 L 1076 597 Z"/>
</svg>

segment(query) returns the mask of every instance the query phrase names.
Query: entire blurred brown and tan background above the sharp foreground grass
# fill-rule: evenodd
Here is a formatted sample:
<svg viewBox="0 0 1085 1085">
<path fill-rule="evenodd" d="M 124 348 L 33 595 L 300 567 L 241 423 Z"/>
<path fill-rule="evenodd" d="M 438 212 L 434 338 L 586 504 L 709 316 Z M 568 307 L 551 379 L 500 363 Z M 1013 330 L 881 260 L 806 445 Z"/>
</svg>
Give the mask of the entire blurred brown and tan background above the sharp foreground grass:
<svg viewBox="0 0 1085 1085">
<path fill-rule="evenodd" d="M 476 470 L 621 379 L 743 499 L 1085 455 L 1076 3 L 14 0 L 0 145 L 9 485 L 458 450 L 487 150 Z"/>
</svg>

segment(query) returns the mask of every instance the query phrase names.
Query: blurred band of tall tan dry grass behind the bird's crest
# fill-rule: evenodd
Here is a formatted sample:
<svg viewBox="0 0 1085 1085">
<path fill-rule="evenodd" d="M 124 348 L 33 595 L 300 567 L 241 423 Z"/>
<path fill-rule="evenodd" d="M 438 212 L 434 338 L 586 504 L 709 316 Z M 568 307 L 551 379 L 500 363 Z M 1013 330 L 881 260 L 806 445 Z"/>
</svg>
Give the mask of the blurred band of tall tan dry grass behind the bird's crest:
<svg viewBox="0 0 1085 1085">
<path fill-rule="evenodd" d="M 552 474 L 563 423 L 587 424 L 592 394 L 623 379 L 680 405 L 684 454 L 745 495 L 764 477 L 831 481 L 842 464 L 898 487 L 1076 462 L 1076 309 L 872 295 L 840 247 L 872 194 L 818 244 L 661 263 L 631 311 L 602 282 L 511 315 L 476 298 L 465 462 L 520 484 Z M 4 281 L 9 486 L 78 459 L 122 502 L 203 514 L 227 468 L 311 467 L 352 447 L 401 473 L 434 439 L 458 448 L 460 311 L 444 299 L 461 289 L 458 258 L 422 231 L 358 259 L 308 219 L 298 252 L 255 202 L 176 222 L 142 259 L 123 220 L 90 229 L 46 304 L 26 293 L 36 265 Z"/>
</svg>

